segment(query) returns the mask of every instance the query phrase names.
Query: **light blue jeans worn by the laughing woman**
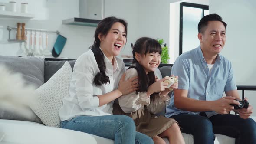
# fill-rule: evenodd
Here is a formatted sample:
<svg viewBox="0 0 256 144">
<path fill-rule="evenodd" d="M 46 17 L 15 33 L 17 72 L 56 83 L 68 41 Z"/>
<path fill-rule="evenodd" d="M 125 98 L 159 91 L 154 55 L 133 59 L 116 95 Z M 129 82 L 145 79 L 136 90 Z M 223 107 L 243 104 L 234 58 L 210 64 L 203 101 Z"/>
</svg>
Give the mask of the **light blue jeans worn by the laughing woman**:
<svg viewBox="0 0 256 144">
<path fill-rule="evenodd" d="M 154 144 L 150 137 L 136 132 L 133 119 L 126 115 L 77 116 L 62 121 L 60 127 L 112 139 L 115 144 Z"/>
</svg>

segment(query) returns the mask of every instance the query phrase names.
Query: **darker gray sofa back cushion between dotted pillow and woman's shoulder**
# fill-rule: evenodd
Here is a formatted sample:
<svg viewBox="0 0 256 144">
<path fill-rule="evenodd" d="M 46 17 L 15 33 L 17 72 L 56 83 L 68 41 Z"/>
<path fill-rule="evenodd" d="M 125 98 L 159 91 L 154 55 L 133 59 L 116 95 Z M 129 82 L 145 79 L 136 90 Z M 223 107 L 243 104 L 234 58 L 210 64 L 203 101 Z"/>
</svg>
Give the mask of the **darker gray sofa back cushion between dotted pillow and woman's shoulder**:
<svg viewBox="0 0 256 144">
<path fill-rule="evenodd" d="M 45 61 L 44 65 L 44 81 L 47 82 L 55 72 L 57 72 L 66 61 Z M 69 60 L 72 70 L 75 65 L 75 60 Z"/>
</svg>

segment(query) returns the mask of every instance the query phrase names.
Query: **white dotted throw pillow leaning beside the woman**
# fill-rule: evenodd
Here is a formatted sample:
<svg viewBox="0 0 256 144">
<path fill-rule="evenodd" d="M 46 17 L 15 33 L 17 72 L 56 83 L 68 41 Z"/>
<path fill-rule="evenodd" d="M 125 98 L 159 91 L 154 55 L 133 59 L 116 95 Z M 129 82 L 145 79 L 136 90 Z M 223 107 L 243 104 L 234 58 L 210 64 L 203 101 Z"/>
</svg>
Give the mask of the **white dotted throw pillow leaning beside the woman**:
<svg viewBox="0 0 256 144">
<path fill-rule="evenodd" d="M 32 110 L 46 126 L 59 128 L 59 108 L 62 106 L 62 98 L 69 94 L 71 76 L 71 66 L 65 62 L 45 84 L 36 89 L 39 104 L 32 106 Z"/>
</svg>

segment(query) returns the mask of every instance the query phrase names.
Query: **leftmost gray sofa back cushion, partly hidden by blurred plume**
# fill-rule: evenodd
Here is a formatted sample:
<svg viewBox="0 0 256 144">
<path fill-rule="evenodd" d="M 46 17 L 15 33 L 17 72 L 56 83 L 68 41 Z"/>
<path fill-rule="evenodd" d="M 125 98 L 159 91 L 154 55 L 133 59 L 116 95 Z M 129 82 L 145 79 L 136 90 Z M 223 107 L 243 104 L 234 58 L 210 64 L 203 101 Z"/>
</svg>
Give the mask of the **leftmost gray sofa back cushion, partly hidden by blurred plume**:
<svg viewBox="0 0 256 144">
<path fill-rule="evenodd" d="M 37 57 L 17 57 L 0 56 L 0 65 L 5 65 L 11 72 L 20 73 L 26 85 L 33 85 L 38 88 L 44 83 L 44 59 Z M 23 95 L 20 95 L 22 97 Z M 11 119 L 21 121 L 34 121 L 42 123 L 37 115 L 28 107 L 23 107 L 20 111 L 27 111 L 30 117 L 24 117 L 7 108 L 0 108 L 0 119 Z"/>
</svg>

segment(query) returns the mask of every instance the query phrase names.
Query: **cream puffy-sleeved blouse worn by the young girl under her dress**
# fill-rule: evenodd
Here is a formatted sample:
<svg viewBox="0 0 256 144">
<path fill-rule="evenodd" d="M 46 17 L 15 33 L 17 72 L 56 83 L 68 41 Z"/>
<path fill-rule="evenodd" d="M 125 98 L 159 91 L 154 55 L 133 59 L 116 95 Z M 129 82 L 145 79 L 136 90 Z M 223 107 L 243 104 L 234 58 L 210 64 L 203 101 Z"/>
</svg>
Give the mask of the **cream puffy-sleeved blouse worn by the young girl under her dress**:
<svg viewBox="0 0 256 144">
<path fill-rule="evenodd" d="M 138 76 L 136 69 L 131 68 L 126 70 L 125 80 L 134 76 Z M 146 108 L 152 114 L 157 114 L 158 112 L 161 112 L 163 108 L 165 108 L 165 103 L 169 100 L 170 98 L 168 95 L 164 96 L 164 98 L 160 97 L 159 95 L 155 95 L 155 101 L 152 102 L 150 101 L 150 97 L 147 96 L 146 92 L 138 92 L 138 94 L 136 94 L 136 91 L 134 91 L 128 95 L 122 95 L 119 97 L 118 103 L 125 113 L 131 113 L 139 109 L 143 109 L 144 106 L 146 106 Z"/>
</svg>

